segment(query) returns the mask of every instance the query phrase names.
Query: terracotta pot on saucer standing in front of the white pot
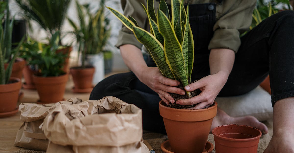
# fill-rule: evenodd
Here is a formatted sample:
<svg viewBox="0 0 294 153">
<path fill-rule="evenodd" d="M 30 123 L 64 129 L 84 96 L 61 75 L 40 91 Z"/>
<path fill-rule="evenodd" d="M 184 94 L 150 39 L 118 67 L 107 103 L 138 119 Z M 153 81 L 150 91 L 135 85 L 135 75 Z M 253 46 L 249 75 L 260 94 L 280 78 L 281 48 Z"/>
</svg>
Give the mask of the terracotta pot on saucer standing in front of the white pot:
<svg viewBox="0 0 294 153">
<path fill-rule="evenodd" d="M 75 87 L 72 89 L 73 92 L 87 93 L 93 89 L 92 79 L 95 72 L 94 67 L 72 67 L 70 73 L 73 77 Z"/>
</svg>

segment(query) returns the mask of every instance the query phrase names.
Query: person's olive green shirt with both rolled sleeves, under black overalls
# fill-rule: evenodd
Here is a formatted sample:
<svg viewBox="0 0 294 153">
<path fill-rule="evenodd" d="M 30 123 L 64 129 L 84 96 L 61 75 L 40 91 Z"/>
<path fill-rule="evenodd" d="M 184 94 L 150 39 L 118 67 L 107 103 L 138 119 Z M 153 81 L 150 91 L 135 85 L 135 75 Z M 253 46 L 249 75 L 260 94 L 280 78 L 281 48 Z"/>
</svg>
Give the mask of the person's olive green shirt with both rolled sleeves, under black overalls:
<svg viewBox="0 0 294 153">
<path fill-rule="evenodd" d="M 124 15 L 132 16 L 140 27 L 149 30 L 147 15 L 141 3 L 147 6 L 146 0 L 121 0 Z M 171 0 L 167 0 L 166 3 L 171 4 Z M 213 26 L 214 34 L 208 49 L 228 48 L 237 52 L 241 44 L 239 35 L 248 30 L 251 24 L 256 0 L 223 0 L 222 4 L 218 4 L 216 0 L 184 0 L 184 5 L 201 3 L 216 3 L 216 23 Z M 159 2 L 154 1 L 156 10 L 158 6 Z M 116 47 L 125 44 L 142 48 L 142 44 L 138 42 L 133 32 L 123 26 L 119 31 Z"/>
</svg>

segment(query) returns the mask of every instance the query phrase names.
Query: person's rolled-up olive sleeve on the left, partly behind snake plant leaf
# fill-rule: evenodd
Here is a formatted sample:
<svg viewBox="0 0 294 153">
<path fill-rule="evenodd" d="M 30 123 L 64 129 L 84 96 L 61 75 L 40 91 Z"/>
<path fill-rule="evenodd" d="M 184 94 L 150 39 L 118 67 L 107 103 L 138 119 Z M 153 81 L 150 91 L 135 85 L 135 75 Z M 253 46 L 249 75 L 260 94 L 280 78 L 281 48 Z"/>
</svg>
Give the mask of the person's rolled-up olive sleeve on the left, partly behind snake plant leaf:
<svg viewBox="0 0 294 153">
<path fill-rule="evenodd" d="M 123 15 L 127 17 L 132 16 L 137 21 L 138 26 L 146 29 L 148 27 L 146 25 L 147 15 L 143 10 L 142 4 L 147 6 L 145 0 L 121 0 L 121 5 L 124 10 Z M 123 25 L 119 30 L 118 40 L 115 46 L 119 47 L 126 44 L 134 45 L 139 49 L 142 48 L 142 44 L 136 39 L 133 32 Z"/>
</svg>

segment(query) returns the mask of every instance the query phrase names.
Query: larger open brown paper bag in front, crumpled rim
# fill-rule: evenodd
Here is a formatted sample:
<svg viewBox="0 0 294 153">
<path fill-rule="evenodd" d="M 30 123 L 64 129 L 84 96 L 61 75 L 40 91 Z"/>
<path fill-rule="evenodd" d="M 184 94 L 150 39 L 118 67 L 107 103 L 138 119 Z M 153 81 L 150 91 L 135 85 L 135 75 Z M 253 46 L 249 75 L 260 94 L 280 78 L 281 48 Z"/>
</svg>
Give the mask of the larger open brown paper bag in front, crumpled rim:
<svg viewBox="0 0 294 153">
<path fill-rule="evenodd" d="M 47 152 L 149 153 L 142 139 L 142 110 L 115 97 L 56 104 L 44 119 Z"/>
</svg>

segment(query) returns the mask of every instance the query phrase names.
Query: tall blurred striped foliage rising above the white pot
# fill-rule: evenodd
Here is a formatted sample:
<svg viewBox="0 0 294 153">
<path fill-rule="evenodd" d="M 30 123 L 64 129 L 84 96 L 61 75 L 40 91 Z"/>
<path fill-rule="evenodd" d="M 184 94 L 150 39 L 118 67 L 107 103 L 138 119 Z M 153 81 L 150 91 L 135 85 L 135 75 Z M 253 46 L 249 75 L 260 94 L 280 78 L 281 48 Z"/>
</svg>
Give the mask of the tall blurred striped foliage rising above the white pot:
<svg viewBox="0 0 294 153">
<path fill-rule="evenodd" d="M 105 0 L 101 0 L 100 8 L 91 13 L 90 4 L 80 5 L 76 1 L 79 26 L 68 18 L 69 23 L 74 28 L 74 33 L 78 42 L 78 52 L 82 55 L 82 67 L 84 67 L 86 54 L 98 54 L 104 50 L 108 43 L 111 29 L 109 19 L 104 14 Z"/>
</svg>

